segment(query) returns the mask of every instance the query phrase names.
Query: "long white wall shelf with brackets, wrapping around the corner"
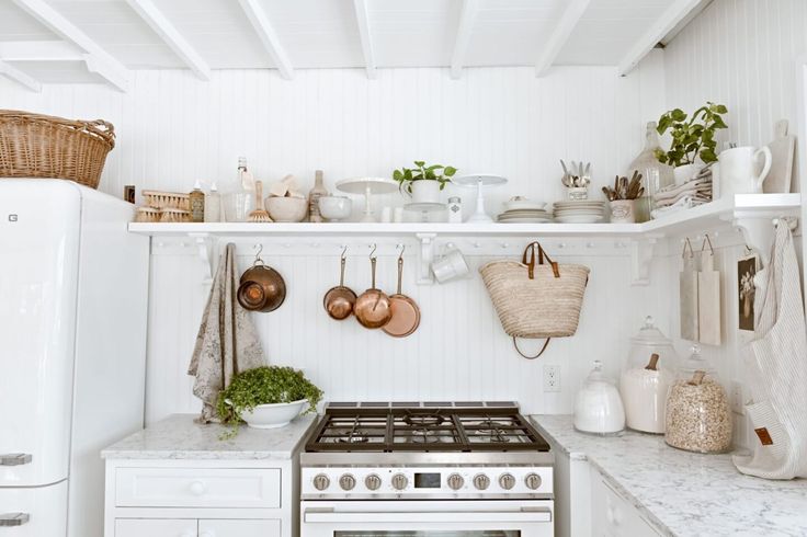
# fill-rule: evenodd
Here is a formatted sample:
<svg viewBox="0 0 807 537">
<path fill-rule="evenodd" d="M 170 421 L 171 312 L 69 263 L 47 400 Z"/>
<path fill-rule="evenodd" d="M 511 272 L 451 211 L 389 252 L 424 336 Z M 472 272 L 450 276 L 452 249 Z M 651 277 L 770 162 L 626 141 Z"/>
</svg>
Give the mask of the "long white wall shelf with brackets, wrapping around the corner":
<svg viewBox="0 0 807 537">
<path fill-rule="evenodd" d="M 623 239 L 630 248 L 633 282 L 649 282 L 649 265 L 655 244 L 664 238 L 702 233 L 734 226 L 743 233 L 749 248 L 766 254 L 773 237 L 773 221 L 795 218 L 802 206 L 800 194 L 738 194 L 734 199 L 718 199 L 689 210 L 644 224 L 129 224 L 129 231 L 150 237 L 189 237 L 209 267 L 214 242 L 219 238 L 289 238 L 289 237 L 413 237 L 420 242 L 419 283 L 432 283 L 430 264 L 435 239 L 454 237 L 530 237 Z"/>
</svg>

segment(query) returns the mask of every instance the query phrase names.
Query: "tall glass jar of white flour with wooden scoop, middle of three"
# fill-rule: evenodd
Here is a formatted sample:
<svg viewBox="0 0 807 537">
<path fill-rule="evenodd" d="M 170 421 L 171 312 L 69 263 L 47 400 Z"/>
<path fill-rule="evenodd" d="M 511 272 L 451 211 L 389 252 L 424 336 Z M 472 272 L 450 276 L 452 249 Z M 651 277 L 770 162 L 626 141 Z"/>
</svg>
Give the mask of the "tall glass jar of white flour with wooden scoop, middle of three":
<svg viewBox="0 0 807 537">
<path fill-rule="evenodd" d="M 644 433 L 663 434 L 667 393 L 674 380 L 678 355 L 652 317 L 630 339 L 630 354 L 620 376 L 625 423 Z"/>
</svg>

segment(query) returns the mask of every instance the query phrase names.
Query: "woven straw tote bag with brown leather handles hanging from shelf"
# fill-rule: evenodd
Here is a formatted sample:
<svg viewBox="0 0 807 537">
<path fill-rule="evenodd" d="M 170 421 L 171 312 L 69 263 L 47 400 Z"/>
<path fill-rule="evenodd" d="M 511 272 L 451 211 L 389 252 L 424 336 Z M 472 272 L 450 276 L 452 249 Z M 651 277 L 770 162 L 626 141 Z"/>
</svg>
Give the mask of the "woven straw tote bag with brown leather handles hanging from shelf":
<svg viewBox="0 0 807 537">
<path fill-rule="evenodd" d="M 523 357 L 537 358 L 552 338 L 577 332 L 589 282 L 588 266 L 556 263 L 536 241 L 524 249 L 521 263 L 491 261 L 479 272 L 504 332 L 513 338 L 513 345 Z M 546 342 L 538 354 L 528 356 L 519 349 L 516 338 L 546 338 Z"/>
</svg>

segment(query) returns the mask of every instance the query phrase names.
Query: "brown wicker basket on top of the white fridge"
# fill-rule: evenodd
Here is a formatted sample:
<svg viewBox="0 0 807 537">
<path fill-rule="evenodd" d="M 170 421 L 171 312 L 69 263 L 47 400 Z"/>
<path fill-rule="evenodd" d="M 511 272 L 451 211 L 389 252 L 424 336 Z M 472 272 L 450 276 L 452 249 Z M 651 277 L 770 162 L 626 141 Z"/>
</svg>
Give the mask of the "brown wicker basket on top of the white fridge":
<svg viewBox="0 0 807 537">
<path fill-rule="evenodd" d="M 115 127 L 0 110 L 0 178 L 68 179 L 96 188 Z"/>
</svg>

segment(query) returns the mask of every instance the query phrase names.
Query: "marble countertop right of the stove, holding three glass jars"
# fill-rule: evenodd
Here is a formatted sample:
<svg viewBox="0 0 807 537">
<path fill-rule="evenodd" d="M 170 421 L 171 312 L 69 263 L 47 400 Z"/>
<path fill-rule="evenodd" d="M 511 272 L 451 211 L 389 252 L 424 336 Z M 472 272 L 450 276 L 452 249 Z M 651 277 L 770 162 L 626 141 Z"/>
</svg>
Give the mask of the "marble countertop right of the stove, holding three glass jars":
<svg viewBox="0 0 807 537">
<path fill-rule="evenodd" d="M 807 535 L 807 480 L 745 476 L 730 455 L 672 448 L 663 436 L 575 431 L 571 415 L 532 415 L 572 459 L 587 459 L 663 535 Z"/>
</svg>

